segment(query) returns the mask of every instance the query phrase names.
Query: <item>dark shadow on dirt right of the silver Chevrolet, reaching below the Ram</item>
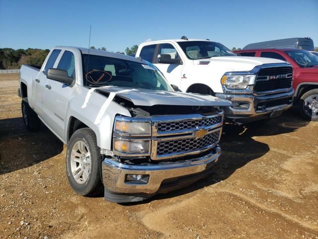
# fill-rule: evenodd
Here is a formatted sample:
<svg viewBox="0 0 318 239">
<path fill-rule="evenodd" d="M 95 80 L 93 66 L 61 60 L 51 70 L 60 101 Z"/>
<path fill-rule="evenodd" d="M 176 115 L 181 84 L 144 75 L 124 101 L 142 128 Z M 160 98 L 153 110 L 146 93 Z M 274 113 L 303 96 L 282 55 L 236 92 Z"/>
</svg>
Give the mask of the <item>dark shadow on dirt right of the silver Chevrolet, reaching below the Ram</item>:
<svg viewBox="0 0 318 239">
<path fill-rule="evenodd" d="M 263 156 L 269 151 L 269 146 L 266 143 L 253 139 L 254 136 L 270 136 L 289 133 L 300 127 L 306 126 L 308 123 L 308 121 L 302 119 L 293 109 L 285 112 L 281 117 L 271 119 L 269 122 L 263 124 L 260 124 L 259 122 L 245 125 L 226 123 L 223 127 L 220 141 L 222 155 L 209 177 L 168 194 L 159 194 L 143 202 L 123 205 L 129 206 L 132 204 L 149 203 L 153 200 L 172 198 L 226 180 L 237 169 L 243 167 L 248 162 Z"/>
</svg>

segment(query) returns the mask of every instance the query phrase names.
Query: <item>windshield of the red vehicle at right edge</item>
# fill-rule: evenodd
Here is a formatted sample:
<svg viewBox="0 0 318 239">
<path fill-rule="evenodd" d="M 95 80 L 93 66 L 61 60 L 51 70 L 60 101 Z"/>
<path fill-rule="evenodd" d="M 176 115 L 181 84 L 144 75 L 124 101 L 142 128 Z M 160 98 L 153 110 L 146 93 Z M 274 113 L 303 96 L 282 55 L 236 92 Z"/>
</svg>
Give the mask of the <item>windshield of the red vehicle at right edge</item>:
<svg viewBox="0 0 318 239">
<path fill-rule="evenodd" d="M 286 51 L 301 67 L 313 67 L 318 65 L 318 56 L 306 50 Z"/>
</svg>

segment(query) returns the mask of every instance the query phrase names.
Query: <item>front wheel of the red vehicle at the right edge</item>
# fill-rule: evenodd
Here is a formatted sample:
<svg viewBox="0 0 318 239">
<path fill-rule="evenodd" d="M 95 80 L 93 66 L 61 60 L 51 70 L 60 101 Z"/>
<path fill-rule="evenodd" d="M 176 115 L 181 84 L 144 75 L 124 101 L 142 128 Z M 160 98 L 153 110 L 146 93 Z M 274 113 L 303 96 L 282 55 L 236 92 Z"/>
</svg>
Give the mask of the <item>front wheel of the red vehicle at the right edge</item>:
<svg viewBox="0 0 318 239">
<path fill-rule="evenodd" d="M 318 89 L 306 92 L 299 101 L 299 111 L 309 121 L 318 121 Z"/>
</svg>

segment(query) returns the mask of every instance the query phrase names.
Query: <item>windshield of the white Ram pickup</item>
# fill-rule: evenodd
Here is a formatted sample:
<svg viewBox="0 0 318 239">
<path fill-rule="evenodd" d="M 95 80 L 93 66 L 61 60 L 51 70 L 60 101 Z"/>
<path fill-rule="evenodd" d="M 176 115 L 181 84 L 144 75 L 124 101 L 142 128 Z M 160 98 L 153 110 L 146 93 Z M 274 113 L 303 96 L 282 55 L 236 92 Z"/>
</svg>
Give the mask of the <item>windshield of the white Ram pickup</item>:
<svg viewBox="0 0 318 239">
<path fill-rule="evenodd" d="M 236 56 L 224 45 L 213 41 L 180 41 L 179 46 L 191 60 L 206 59 L 215 56 Z"/>
</svg>

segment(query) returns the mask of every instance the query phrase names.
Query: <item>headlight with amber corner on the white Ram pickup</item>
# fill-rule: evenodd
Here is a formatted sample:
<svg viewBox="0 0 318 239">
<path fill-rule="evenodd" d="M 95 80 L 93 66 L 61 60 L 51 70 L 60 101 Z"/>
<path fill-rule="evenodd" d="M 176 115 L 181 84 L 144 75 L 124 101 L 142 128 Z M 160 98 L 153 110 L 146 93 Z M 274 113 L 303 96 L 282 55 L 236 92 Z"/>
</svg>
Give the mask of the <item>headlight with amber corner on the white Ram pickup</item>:
<svg viewBox="0 0 318 239">
<path fill-rule="evenodd" d="M 222 85 L 229 89 L 246 89 L 254 81 L 255 75 L 224 75 L 221 79 Z"/>
</svg>

